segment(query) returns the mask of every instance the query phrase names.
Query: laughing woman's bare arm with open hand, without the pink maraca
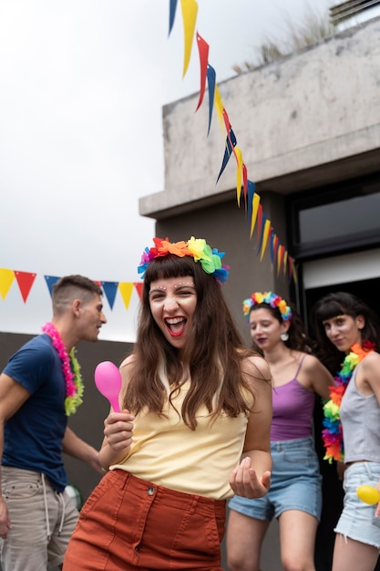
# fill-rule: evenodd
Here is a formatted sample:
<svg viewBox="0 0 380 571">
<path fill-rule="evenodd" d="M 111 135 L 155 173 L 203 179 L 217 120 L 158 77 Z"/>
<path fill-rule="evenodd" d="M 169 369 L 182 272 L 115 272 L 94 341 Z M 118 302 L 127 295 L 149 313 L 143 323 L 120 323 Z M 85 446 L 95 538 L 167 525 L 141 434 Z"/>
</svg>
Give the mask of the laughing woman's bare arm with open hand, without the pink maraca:
<svg viewBox="0 0 380 571">
<path fill-rule="evenodd" d="M 242 460 L 232 472 L 230 484 L 237 495 L 258 498 L 268 492 L 271 484 L 272 386 L 264 380 L 270 379 L 271 373 L 267 362 L 260 357 L 246 359 L 245 369 L 255 400 L 247 424 Z"/>
</svg>

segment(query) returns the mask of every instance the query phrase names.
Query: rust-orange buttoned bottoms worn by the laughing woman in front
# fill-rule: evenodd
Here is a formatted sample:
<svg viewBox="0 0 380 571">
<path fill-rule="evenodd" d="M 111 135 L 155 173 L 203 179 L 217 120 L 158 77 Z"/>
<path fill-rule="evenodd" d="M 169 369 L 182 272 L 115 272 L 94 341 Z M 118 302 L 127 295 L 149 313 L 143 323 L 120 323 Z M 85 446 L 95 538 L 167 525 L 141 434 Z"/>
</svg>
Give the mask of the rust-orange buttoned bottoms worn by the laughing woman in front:
<svg viewBox="0 0 380 571">
<path fill-rule="evenodd" d="M 113 470 L 82 507 L 64 571 L 222 571 L 226 503 Z"/>
</svg>

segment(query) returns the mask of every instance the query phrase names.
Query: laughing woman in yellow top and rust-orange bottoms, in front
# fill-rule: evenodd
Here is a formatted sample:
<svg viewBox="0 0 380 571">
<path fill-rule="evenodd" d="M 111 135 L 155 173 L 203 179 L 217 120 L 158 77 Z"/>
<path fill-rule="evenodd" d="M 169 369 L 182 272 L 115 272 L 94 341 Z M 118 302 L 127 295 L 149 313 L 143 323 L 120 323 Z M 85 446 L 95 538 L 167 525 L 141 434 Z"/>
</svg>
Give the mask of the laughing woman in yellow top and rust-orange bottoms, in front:
<svg viewBox="0 0 380 571">
<path fill-rule="evenodd" d="M 221 571 L 226 500 L 267 493 L 272 388 L 221 292 L 228 267 L 203 239 L 154 239 L 121 412 L 105 420 L 107 474 L 81 511 L 66 571 Z"/>
</svg>

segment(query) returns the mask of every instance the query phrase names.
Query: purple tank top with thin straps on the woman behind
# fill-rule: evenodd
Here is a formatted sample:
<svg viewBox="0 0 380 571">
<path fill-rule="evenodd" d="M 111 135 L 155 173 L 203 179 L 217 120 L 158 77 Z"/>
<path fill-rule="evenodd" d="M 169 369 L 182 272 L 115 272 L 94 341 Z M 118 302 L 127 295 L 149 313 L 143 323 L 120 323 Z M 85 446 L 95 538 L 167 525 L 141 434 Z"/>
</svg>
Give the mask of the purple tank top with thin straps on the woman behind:
<svg viewBox="0 0 380 571">
<path fill-rule="evenodd" d="M 305 389 L 297 380 L 303 358 L 293 380 L 272 391 L 273 417 L 271 441 L 293 441 L 312 434 L 312 420 L 315 395 Z"/>
</svg>

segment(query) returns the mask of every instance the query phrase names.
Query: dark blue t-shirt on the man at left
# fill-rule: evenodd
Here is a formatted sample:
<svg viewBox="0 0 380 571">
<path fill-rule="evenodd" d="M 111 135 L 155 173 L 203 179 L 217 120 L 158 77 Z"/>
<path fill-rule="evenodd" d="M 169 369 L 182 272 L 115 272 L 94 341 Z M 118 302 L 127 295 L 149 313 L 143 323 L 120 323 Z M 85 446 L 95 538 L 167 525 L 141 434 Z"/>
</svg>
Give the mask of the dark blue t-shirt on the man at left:
<svg viewBox="0 0 380 571">
<path fill-rule="evenodd" d="M 43 472 L 57 492 L 67 475 L 62 439 L 67 428 L 66 386 L 61 361 L 46 334 L 34 337 L 13 355 L 4 371 L 30 397 L 5 422 L 3 465 Z"/>
</svg>

